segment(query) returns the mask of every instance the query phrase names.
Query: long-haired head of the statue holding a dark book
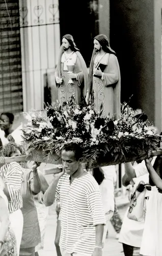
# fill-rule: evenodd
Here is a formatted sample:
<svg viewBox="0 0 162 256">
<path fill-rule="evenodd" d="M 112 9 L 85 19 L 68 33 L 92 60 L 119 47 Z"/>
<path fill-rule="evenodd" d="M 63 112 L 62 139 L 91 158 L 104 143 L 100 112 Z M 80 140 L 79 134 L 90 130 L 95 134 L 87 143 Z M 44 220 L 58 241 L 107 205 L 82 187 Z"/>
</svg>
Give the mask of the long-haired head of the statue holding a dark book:
<svg viewBox="0 0 162 256">
<path fill-rule="evenodd" d="M 94 49 L 96 52 L 99 52 L 102 49 L 104 52 L 116 54 L 115 51 L 111 49 L 109 40 L 106 35 L 100 34 L 95 36 L 93 42 L 94 42 Z"/>
</svg>

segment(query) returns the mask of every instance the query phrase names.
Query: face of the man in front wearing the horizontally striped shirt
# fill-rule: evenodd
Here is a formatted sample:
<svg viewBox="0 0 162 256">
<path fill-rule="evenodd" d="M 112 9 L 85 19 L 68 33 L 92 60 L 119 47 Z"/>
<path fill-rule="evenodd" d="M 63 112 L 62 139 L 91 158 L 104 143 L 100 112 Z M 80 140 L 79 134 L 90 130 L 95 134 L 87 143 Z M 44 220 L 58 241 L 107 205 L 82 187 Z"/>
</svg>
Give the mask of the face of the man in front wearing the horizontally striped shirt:
<svg viewBox="0 0 162 256">
<path fill-rule="evenodd" d="M 77 171 L 80 164 L 79 160 L 76 161 L 74 152 L 63 150 L 61 158 L 65 172 L 69 175 L 73 175 Z"/>
</svg>

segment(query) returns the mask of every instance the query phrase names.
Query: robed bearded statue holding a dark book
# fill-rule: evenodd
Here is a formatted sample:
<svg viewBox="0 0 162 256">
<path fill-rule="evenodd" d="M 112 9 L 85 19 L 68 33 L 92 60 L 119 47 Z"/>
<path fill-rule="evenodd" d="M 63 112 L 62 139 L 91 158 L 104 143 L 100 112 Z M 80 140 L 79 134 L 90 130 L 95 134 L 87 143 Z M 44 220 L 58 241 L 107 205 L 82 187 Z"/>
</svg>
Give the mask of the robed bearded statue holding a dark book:
<svg viewBox="0 0 162 256">
<path fill-rule="evenodd" d="M 90 64 L 90 99 L 94 109 L 102 109 L 102 116 L 120 116 L 120 68 L 116 53 L 105 35 L 94 38 L 94 51 Z"/>
</svg>

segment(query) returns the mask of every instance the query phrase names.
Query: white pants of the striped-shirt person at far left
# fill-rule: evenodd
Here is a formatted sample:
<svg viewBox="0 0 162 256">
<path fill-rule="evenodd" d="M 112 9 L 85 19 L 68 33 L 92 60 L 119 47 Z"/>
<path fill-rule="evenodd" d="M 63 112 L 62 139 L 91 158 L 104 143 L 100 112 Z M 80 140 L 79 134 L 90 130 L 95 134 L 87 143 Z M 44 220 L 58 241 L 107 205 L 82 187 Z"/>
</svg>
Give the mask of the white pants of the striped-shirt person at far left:
<svg viewBox="0 0 162 256">
<path fill-rule="evenodd" d="M 20 209 L 10 214 L 10 222 L 16 237 L 17 256 L 18 256 L 19 250 L 20 250 L 21 238 L 22 238 L 22 229 L 23 229 L 23 215 Z"/>
</svg>

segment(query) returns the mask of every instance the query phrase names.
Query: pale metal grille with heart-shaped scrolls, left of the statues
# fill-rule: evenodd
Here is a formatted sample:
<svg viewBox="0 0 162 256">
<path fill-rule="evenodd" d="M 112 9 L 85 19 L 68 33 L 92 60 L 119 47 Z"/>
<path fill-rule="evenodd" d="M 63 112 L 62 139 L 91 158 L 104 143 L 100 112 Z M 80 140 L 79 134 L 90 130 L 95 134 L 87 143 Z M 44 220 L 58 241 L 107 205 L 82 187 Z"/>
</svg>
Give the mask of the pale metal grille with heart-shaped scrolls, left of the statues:
<svg viewBox="0 0 162 256">
<path fill-rule="evenodd" d="M 55 70 L 60 49 L 58 0 L 19 0 L 19 8 L 23 95 L 29 88 L 34 95 L 24 109 L 41 109 L 45 77 Z"/>
</svg>

